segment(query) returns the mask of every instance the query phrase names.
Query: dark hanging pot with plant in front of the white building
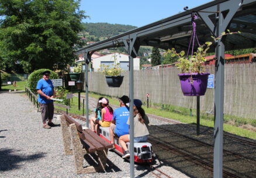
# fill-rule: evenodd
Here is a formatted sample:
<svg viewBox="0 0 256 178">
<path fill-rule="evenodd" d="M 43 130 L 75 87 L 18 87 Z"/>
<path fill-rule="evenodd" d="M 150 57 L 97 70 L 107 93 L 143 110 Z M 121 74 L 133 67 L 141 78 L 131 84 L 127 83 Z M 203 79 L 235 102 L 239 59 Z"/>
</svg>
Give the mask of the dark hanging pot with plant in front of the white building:
<svg viewBox="0 0 256 178">
<path fill-rule="evenodd" d="M 121 75 L 121 72 L 123 72 L 123 70 L 119 65 L 120 63 L 117 63 L 116 55 L 114 55 L 114 64 L 112 64 L 111 67 L 110 65 L 101 65 L 103 68 L 101 72 L 105 75 L 109 87 L 120 87 L 122 85 L 123 76 Z"/>
</svg>

